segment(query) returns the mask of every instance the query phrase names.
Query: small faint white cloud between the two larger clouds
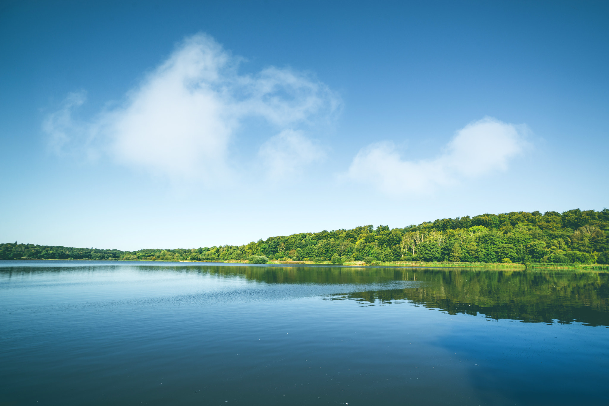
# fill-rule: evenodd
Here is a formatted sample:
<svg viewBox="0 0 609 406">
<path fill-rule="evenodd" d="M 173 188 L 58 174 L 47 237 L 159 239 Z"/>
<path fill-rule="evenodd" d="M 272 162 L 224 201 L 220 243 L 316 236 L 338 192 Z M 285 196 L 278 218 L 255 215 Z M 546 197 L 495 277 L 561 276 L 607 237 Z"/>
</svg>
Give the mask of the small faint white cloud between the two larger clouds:
<svg viewBox="0 0 609 406">
<path fill-rule="evenodd" d="M 289 177 L 325 157 L 324 150 L 301 131 L 284 130 L 260 147 L 258 155 L 274 180 Z"/>
</svg>

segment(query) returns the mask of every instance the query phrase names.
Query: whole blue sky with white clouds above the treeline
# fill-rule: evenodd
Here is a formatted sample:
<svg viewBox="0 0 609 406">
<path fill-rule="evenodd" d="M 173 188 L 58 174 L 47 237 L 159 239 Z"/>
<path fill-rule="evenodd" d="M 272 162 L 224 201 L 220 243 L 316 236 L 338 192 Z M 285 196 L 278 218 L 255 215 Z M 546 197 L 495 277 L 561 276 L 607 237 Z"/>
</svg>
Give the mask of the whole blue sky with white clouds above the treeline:
<svg viewBox="0 0 609 406">
<path fill-rule="evenodd" d="M 606 2 L 0 7 L 5 242 L 607 206 Z"/>
</svg>

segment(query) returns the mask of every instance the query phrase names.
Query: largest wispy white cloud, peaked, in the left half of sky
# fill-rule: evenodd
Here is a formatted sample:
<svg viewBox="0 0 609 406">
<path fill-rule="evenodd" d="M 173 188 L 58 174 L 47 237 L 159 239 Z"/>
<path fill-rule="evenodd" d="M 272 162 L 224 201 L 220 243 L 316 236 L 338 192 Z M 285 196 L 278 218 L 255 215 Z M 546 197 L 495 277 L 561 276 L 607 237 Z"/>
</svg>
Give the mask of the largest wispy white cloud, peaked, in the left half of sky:
<svg viewBox="0 0 609 406">
<path fill-rule="evenodd" d="M 84 100 L 66 102 L 43 129 L 57 145 L 95 139 L 97 148 L 130 166 L 171 178 L 219 180 L 230 172 L 230 143 L 244 119 L 258 117 L 285 139 L 306 144 L 301 132 L 289 131 L 324 121 L 339 107 L 336 95 L 311 75 L 274 67 L 240 75 L 241 62 L 213 38 L 194 35 L 119 107 L 79 124 L 71 111 Z"/>
</svg>

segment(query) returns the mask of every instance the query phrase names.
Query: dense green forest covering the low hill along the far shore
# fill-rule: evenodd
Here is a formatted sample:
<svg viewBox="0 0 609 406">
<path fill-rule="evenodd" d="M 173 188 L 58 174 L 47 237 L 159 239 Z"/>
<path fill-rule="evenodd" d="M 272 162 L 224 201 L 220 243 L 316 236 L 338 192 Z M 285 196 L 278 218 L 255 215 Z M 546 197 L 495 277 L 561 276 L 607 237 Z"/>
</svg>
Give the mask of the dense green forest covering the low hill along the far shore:
<svg viewBox="0 0 609 406">
<path fill-rule="evenodd" d="M 139 251 L 5 243 L 0 258 L 229 261 L 550 262 L 609 264 L 609 209 L 480 214 L 404 228 L 359 226 L 269 237 L 245 245 Z"/>
</svg>

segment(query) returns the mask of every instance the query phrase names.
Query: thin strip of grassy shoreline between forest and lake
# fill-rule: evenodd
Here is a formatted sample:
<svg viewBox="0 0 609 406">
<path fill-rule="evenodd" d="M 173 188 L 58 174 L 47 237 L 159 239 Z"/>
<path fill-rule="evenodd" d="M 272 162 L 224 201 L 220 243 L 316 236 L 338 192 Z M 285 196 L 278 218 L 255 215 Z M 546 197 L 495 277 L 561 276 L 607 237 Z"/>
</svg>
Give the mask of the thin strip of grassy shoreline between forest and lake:
<svg viewBox="0 0 609 406">
<path fill-rule="evenodd" d="M 171 261 L 164 259 L 39 259 L 39 258 L 0 258 L 0 261 L 138 261 L 138 262 L 188 262 L 191 264 L 249 264 L 247 259 L 228 259 L 227 261 L 212 260 L 212 261 Z M 485 262 L 424 262 L 424 261 L 393 261 L 393 262 L 373 262 L 366 264 L 364 261 L 350 261 L 344 264 L 333 264 L 332 262 L 313 262 L 313 261 L 278 261 L 269 260 L 269 265 L 325 265 L 325 266 L 343 266 L 343 267 L 394 267 L 394 268 L 496 268 L 498 270 L 525 270 L 525 269 L 549 269 L 549 270 L 596 270 L 609 271 L 609 265 L 601 264 L 548 264 L 548 263 L 530 263 L 530 264 L 504 264 L 504 263 L 485 263 Z"/>
</svg>

